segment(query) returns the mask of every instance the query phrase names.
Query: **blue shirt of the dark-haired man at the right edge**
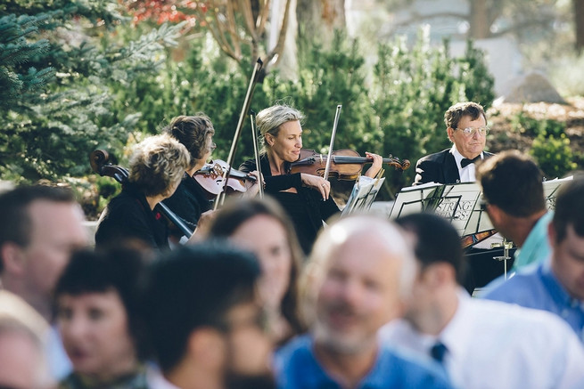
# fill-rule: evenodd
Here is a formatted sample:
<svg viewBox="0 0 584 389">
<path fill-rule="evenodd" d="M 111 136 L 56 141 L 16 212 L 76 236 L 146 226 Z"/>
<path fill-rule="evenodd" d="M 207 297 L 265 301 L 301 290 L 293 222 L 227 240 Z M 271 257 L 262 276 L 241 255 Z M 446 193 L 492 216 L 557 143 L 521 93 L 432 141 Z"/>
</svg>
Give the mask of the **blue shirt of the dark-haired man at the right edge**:
<svg viewBox="0 0 584 389">
<path fill-rule="evenodd" d="M 495 282 L 495 281 L 493 281 Z M 519 271 L 482 296 L 555 313 L 565 320 L 584 342 L 584 303 L 570 296 L 555 278 L 551 260 Z"/>
</svg>

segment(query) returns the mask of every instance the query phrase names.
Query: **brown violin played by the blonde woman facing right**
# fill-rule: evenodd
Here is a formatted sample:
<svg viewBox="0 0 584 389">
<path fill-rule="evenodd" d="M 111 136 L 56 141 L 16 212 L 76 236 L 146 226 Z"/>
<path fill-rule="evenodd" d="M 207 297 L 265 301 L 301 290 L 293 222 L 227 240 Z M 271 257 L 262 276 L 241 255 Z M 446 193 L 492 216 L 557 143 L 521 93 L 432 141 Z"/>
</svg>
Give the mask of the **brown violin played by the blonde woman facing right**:
<svg viewBox="0 0 584 389">
<path fill-rule="evenodd" d="M 326 155 L 317 153 L 315 150 L 300 149 L 300 157 L 291 164 L 291 173 L 307 173 L 322 177 L 325 175 L 326 159 Z M 338 180 L 356 180 L 363 166 L 372 162 L 373 158 L 361 157 L 355 150 L 334 150 L 331 155 L 329 177 L 336 177 Z M 391 155 L 389 158 L 383 158 L 383 163 L 402 171 L 410 166 L 407 159 L 399 160 Z"/>
</svg>

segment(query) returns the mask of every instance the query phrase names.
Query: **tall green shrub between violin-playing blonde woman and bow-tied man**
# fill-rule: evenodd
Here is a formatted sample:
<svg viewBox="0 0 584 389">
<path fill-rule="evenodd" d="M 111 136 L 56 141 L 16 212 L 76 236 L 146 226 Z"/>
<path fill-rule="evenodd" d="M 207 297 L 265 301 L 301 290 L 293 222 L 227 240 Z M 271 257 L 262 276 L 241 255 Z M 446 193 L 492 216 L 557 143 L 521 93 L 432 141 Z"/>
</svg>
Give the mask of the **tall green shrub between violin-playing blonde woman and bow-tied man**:
<svg viewBox="0 0 584 389">
<path fill-rule="evenodd" d="M 444 112 L 457 101 L 480 101 L 485 109 L 493 98 L 493 77 L 481 52 L 468 43 L 465 56 L 451 59 L 448 42 L 434 48 L 428 30 L 408 48 L 405 38 L 380 45 L 370 98 L 385 152 L 409 158 L 412 164 L 424 154 L 448 148 Z M 391 175 L 391 189 L 413 182 L 414 168 Z"/>
</svg>

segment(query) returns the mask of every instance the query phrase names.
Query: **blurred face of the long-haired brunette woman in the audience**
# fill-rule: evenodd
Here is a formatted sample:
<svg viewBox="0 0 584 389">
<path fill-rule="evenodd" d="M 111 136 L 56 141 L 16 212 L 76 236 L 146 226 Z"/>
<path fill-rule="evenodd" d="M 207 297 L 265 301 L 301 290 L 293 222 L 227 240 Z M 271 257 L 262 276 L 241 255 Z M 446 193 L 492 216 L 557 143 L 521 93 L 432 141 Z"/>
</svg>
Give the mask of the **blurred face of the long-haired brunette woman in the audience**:
<svg viewBox="0 0 584 389">
<path fill-rule="evenodd" d="M 262 276 L 259 293 L 271 308 L 279 308 L 290 286 L 292 251 L 282 223 L 268 215 L 257 215 L 239 226 L 231 239 L 258 256 Z"/>
</svg>

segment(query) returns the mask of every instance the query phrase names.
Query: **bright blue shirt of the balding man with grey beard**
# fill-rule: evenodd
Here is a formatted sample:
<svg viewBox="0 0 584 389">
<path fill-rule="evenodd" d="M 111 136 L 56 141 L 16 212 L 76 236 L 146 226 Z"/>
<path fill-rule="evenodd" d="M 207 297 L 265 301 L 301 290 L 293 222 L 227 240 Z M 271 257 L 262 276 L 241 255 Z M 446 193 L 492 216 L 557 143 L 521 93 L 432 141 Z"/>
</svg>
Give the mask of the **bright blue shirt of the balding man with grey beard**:
<svg viewBox="0 0 584 389">
<path fill-rule="evenodd" d="M 311 336 L 298 336 L 276 353 L 276 381 L 280 389 L 340 389 L 320 365 Z M 358 389 L 451 388 L 437 365 L 413 360 L 390 348 L 380 348 L 373 368 Z"/>
</svg>

